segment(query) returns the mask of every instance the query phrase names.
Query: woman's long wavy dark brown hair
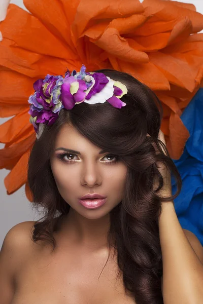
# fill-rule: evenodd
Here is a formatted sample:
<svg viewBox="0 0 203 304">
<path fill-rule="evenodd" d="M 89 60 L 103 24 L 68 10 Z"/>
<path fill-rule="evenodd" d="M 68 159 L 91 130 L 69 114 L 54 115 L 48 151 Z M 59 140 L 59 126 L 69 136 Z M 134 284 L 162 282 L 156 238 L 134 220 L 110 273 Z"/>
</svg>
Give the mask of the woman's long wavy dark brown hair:
<svg viewBox="0 0 203 304">
<path fill-rule="evenodd" d="M 67 214 L 70 205 L 60 196 L 50 166 L 55 138 L 63 124 L 73 125 L 82 135 L 101 149 L 117 155 L 127 165 L 123 200 L 110 212 L 109 246 L 117 252 L 117 262 L 123 275 L 125 290 L 134 294 L 137 304 L 161 304 L 162 255 L 158 229 L 161 201 L 153 188 L 158 177 L 159 188 L 163 179 L 156 166 L 161 161 L 177 181 L 175 199 L 181 191 L 181 176 L 168 155 L 162 152 L 158 139 L 162 119 L 161 102 L 155 93 L 130 74 L 102 69 L 115 81 L 125 84 L 128 92 L 121 99 L 126 103 L 115 108 L 108 102 L 90 105 L 76 104 L 72 110 L 62 109 L 57 121 L 45 126 L 36 140 L 28 163 L 28 182 L 33 193 L 33 205 L 42 207 L 44 216 L 34 225 L 34 242 L 56 242 L 53 218 Z M 151 137 L 147 137 L 147 133 Z M 159 149 L 157 155 L 154 145 Z M 52 228 L 51 228 L 52 227 Z M 114 236 L 114 243 L 111 243 Z"/>
</svg>

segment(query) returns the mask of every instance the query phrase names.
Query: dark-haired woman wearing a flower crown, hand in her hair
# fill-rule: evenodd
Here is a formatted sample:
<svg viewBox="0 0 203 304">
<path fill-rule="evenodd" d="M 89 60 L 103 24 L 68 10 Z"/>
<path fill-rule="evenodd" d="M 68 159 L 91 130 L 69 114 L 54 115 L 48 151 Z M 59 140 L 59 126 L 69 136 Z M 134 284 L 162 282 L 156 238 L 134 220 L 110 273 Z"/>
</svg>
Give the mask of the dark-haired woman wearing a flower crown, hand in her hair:
<svg viewBox="0 0 203 304">
<path fill-rule="evenodd" d="M 175 213 L 156 95 L 84 66 L 33 87 L 28 181 L 44 216 L 5 238 L 3 304 L 200 303 L 202 247 Z"/>
</svg>

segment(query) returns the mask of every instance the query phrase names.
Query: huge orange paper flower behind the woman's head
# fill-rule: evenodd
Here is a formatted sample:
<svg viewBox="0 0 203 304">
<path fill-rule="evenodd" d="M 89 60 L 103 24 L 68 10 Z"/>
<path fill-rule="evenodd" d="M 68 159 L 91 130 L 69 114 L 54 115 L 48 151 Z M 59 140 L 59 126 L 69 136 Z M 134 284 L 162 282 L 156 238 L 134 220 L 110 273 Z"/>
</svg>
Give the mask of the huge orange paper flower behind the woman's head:
<svg viewBox="0 0 203 304">
<path fill-rule="evenodd" d="M 191 4 L 165 0 L 24 0 L 0 23 L 0 168 L 7 194 L 25 184 L 35 133 L 29 123 L 32 84 L 47 73 L 114 68 L 131 73 L 160 98 L 170 156 L 179 159 L 189 137 L 180 116 L 203 78 L 203 16 Z"/>
</svg>

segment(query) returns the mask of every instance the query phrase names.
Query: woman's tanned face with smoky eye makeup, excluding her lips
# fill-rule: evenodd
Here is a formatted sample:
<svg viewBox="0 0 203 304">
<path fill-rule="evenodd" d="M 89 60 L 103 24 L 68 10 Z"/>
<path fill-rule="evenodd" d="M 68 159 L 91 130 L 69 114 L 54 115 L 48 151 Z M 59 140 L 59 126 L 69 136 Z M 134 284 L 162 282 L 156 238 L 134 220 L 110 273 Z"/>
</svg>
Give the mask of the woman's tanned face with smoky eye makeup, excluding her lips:
<svg viewBox="0 0 203 304">
<path fill-rule="evenodd" d="M 51 157 L 51 169 L 60 195 L 71 208 L 89 219 L 105 216 L 123 199 L 127 173 L 127 166 L 121 160 L 115 162 L 116 156 L 108 152 L 99 154 L 99 151 L 100 148 L 77 129 L 64 125 Z M 79 203 L 79 198 L 93 193 L 107 197 L 106 203 L 96 209 Z"/>
</svg>

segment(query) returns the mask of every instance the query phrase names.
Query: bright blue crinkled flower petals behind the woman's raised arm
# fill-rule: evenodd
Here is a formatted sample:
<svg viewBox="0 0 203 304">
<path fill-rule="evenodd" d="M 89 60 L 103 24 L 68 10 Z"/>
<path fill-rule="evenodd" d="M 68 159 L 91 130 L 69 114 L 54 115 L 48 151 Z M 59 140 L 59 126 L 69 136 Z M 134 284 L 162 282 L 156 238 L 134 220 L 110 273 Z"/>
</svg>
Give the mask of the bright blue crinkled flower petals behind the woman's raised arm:
<svg viewBox="0 0 203 304">
<path fill-rule="evenodd" d="M 181 120 L 190 133 L 179 160 L 173 160 L 182 177 L 182 190 L 174 200 L 183 229 L 193 232 L 203 246 L 203 89 L 184 109 Z M 172 191 L 176 192 L 172 177 Z"/>
</svg>

